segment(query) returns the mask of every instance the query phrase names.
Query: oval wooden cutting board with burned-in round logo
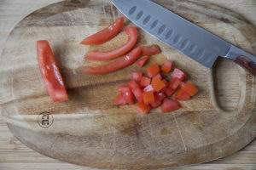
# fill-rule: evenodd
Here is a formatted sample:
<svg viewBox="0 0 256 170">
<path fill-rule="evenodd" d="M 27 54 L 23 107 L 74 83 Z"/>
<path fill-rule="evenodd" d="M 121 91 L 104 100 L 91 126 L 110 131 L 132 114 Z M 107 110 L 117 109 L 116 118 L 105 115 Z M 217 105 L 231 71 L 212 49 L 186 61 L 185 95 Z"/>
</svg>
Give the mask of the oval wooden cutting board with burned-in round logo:
<svg viewBox="0 0 256 170">
<path fill-rule="evenodd" d="M 241 15 L 202 1 L 156 2 L 256 54 L 256 28 Z M 108 75 L 86 75 L 84 65 L 102 65 L 83 58 L 88 50 L 118 48 L 127 38 L 122 32 L 95 47 L 79 42 L 119 16 L 107 0 L 76 0 L 38 9 L 15 26 L 0 58 L 0 111 L 15 137 L 61 161 L 128 169 L 211 161 L 255 138 L 255 77 L 227 59 L 207 70 L 139 28 L 137 44 L 156 43 L 162 50 L 147 65 L 172 59 L 200 93 L 170 113 L 159 108 L 139 116 L 132 105 L 113 105 L 118 86 L 129 82 L 132 71 L 145 68 L 131 65 Z M 126 20 L 125 25 L 132 24 Z M 67 102 L 53 103 L 44 88 L 36 54 L 39 39 L 49 40 L 53 48 L 67 84 Z"/>
</svg>

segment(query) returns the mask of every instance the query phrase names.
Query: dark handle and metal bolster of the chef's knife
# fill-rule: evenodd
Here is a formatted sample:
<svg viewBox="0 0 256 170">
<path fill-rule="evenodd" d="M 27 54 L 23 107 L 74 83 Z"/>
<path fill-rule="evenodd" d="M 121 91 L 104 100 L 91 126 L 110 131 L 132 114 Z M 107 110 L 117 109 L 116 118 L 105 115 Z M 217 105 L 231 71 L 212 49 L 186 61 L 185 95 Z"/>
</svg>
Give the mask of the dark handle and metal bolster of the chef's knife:
<svg viewBox="0 0 256 170">
<path fill-rule="evenodd" d="M 233 59 L 237 64 L 243 66 L 247 71 L 250 71 L 254 76 L 256 76 L 256 57 L 252 54 L 237 48 L 236 46 L 231 46 L 230 51 L 225 56 L 228 59 Z"/>
</svg>

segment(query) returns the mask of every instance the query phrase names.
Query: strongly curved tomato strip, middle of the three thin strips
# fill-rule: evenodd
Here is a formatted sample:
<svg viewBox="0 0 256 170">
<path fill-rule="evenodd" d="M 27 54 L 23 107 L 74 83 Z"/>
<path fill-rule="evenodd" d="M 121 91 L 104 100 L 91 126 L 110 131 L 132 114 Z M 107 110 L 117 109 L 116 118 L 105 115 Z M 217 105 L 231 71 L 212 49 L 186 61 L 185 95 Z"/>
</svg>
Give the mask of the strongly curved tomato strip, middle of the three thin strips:
<svg viewBox="0 0 256 170">
<path fill-rule="evenodd" d="M 125 33 L 128 36 L 128 42 L 120 48 L 108 52 L 90 51 L 84 55 L 85 59 L 106 60 L 117 58 L 133 48 L 137 42 L 137 30 L 134 26 L 125 26 Z"/>
</svg>

